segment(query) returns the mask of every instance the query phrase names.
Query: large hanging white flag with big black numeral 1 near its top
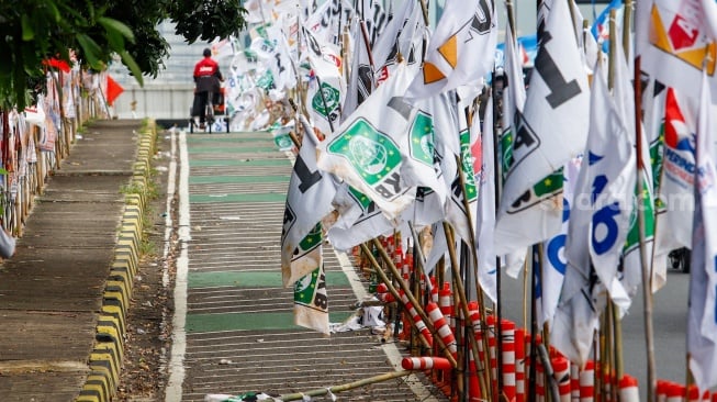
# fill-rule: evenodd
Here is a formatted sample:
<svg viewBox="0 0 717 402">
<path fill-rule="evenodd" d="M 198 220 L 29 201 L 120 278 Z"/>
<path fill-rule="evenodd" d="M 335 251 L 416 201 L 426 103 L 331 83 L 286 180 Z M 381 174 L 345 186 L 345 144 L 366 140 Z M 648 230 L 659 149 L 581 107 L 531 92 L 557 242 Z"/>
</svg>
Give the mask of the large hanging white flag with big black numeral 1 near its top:
<svg viewBox="0 0 717 402">
<path fill-rule="evenodd" d="M 516 115 L 495 228 L 497 255 L 525 249 L 560 230 L 560 169 L 584 150 L 590 121 L 587 77 L 570 21 L 568 4 L 556 1 L 524 112 Z M 502 153 L 505 165 L 505 147 Z"/>
</svg>

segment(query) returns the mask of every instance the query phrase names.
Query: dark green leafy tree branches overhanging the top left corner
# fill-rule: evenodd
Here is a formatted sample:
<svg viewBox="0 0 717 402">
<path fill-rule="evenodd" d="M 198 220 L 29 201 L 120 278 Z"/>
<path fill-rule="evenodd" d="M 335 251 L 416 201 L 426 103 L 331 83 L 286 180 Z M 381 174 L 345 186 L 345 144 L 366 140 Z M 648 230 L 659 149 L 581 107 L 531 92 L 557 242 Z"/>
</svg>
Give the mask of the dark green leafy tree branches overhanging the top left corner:
<svg viewBox="0 0 717 402">
<path fill-rule="evenodd" d="M 101 70 L 114 55 L 137 81 L 156 77 L 169 45 L 157 31 L 177 24 L 187 42 L 225 38 L 246 27 L 239 0 L 0 1 L 0 108 L 24 108 L 44 82 L 51 58 Z"/>
</svg>

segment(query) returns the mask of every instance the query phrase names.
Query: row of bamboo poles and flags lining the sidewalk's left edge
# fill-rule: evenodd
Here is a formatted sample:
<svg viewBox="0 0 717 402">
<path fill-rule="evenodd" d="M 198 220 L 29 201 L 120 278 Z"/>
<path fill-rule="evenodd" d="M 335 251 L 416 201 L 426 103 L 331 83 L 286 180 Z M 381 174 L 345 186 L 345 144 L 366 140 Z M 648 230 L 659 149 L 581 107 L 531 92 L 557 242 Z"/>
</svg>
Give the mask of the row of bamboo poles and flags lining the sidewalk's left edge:
<svg viewBox="0 0 717 402">
<path fill-rule="evenodd" d="M 109 116 L 104 72 L 49 71 L 46 86 L 33 107 L 0 109 L 0 153 L 7 170 L 0 179 L 0 215 L 2 227 L 14 236 L 22 236 L 35 196 L 69 155 L 78 130 L 90 119 Z"/>
</svg>

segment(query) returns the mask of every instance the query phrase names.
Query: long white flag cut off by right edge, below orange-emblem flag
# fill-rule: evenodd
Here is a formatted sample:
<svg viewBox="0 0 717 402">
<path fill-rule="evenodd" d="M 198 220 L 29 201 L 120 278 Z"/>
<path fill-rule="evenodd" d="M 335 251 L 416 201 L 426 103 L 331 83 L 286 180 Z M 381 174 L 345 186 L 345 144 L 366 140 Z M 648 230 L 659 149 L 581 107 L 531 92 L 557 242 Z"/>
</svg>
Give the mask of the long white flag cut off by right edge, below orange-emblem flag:
<svg viewBox="0 0 717 402">
<path fill-rule="evenodd" d="M 697 122 L 687 356 L 701 391 L 717 386 L 717 167 L 712 96 L 703 77 Z"/>
</svg>

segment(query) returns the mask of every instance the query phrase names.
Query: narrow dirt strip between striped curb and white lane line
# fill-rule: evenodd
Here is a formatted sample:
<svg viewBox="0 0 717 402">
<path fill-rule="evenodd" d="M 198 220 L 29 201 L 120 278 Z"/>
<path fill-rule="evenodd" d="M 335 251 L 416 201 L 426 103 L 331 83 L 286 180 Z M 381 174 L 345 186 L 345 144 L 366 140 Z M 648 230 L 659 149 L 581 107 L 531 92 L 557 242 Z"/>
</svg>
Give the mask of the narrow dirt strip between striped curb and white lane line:
<svg viewBox="0 0 717 402">
<path fill-rule="evenodd" d="M 172 246 L 165 256 L 166 214 L 172 214 L 172 222 L 177 220 L 173 216 L 176 211 L 167 211 L 169 133 L 161 129 L 158 131 L 157 153 L 153 161 L 156 197 L 149 200 L 145 212 L 145 253 L 141 258 L 127 313 L 124 364 L 116 398 L 122 402 L 164 401 L 168 379 L 176 238 L 169 242 Z"/>
</svg>

